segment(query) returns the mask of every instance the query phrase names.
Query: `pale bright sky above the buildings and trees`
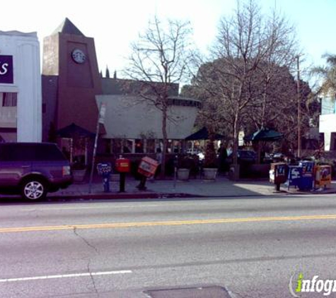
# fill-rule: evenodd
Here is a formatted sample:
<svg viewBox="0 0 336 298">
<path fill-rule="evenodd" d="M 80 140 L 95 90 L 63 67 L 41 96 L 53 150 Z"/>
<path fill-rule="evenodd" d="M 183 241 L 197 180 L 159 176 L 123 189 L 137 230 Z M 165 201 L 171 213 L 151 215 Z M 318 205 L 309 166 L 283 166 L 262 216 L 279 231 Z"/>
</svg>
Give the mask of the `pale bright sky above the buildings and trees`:
<svg viewBox="0 0 336 298">
<path fill-rule="evenodd" d="M 296 28 L 303 64 L 321 65 L 326 52 L 336 54 L 335 0 L 256 0 L 265 11 L 277 8 Z M 43 38 L 69 18 L 87 37 L 95 39 L 98 67 L 105 73 L 127 64 L 129 44 L 137 40 L 153 16 L 189 20 L 193 38 L 207 52 L 219 20 L 236 7 L 236 0 L 9 0 L 1 3 L 0 30 L 37 32 Z"/>
</svg>

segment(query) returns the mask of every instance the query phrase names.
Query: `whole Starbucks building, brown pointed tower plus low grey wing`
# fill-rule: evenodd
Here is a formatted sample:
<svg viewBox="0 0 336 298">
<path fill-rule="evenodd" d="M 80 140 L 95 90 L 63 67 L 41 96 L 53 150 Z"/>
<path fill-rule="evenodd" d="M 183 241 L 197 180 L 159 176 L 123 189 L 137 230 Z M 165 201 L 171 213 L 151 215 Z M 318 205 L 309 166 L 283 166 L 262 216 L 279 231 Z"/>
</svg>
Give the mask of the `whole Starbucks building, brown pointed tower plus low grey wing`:
<svg viewBox="0 0 336 298">
<path fill-rule="evenodd" d="M 145 85 L 116 76 L 102 78 L 93 38 L 66 18 L 43 44 L 43 140 L 50 138 L 50 129 L 70 124 L 95 133 L 98 107 L 104 103 L 98 152 L 155 153 L 162 139 L 161 112 L 141 100 L 139 90 Z M 199 101 L 178 93 L 179 85 L 171 84 L 167 126 L 171 152 L 191 133 L 200 107 Z M 62 147 L 69 150 L 69 144 Z"/>
</svg>

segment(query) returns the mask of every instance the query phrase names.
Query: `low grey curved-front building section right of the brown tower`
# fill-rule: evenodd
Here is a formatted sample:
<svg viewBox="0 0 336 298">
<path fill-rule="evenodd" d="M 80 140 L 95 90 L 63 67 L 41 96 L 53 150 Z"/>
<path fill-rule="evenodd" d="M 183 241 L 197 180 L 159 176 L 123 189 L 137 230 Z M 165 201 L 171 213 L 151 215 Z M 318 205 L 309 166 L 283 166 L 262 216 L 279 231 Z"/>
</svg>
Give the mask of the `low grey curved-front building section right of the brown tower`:
<svg viewBox="0 0 336 298">
<path fill-rule="evenodd" d="M 136 95 L 146 82 L 102 78 L 103 94 L 97 105 L 106 105 L 105 130 L 102 136 L 110 153 L 155 153 L 161 147 L 162 113 Z M 200 107 L 198 100 L 178 96 L 178 84 L 170 85 L 167 133 L 168 152 L 178 149 L 192 131 Z"/>
</svg>

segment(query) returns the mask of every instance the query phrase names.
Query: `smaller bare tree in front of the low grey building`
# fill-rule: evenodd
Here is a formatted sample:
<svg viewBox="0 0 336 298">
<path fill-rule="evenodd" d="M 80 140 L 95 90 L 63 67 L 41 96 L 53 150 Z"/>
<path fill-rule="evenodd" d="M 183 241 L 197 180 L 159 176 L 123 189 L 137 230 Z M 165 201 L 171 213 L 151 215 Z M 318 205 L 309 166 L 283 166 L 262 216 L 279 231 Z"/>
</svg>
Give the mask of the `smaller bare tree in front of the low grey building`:
<svg viewBox="0 0 336 298">
<path fill-rule="evenodd" d="M 133 42 L 127 76 L 143 82 L 139 95 L 148 105 L 162 112 L 163 159 L 161 176 L 165 173 L 167 148 L 168 97 L 176 84 L 183 81 L 191 59 L 190 23 L 178 20 L 161 22 L 157 17 L 139 40 Z M 175 85 L 175 86 L 174 86 Z M 177 86 L 178 87 L 178 86 Z"/>
</svg>

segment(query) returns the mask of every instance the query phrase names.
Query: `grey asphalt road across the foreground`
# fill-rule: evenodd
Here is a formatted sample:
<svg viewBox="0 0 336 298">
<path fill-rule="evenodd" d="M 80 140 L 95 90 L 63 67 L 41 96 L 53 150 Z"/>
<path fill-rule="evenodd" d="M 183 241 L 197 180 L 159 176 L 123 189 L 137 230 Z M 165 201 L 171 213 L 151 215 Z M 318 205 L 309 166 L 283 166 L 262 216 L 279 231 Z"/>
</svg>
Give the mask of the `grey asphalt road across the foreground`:
<svg viewBox="0 0 336 298">
<path fill-rule="evenodd" d="M 335 195 L 0 203 L 1 298 L 283 298 L 335 264 Z"/>
</svg>

